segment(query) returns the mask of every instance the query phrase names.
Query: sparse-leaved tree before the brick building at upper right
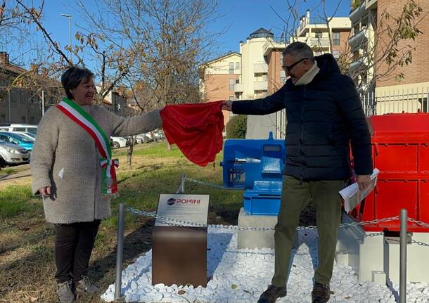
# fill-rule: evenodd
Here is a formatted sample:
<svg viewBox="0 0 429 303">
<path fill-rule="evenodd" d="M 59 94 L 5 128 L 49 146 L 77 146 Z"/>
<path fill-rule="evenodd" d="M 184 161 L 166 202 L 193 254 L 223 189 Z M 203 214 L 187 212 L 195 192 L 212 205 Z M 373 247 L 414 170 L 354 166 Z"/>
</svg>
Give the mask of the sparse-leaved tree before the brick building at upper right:
<svg viewBox="0 0 429 303">
<path fill-rule="evenodd" d="M 326 0 L 321 0 L 321 18 L 328 28 L 331 50 L 333 47 L 330 22 L 337 13 L 341 1 L 339 0 L 335 6 L 333 15 L 328 17 Z M 352 8 L 357 8 L 359 5 L 360 1 L 354 1 Z M 406 0 L 399 15 L 393 16 L 387 10 L 378 15 L 380 17 L 378 20 L 372 20 L 371 27 L 361 29 L 364 31 L 362 34 L 371 36 L 373 39 L 361 39 L 359 47 L 354 48 L 359 51 L 353 51 L 350 44 L 346 44 L 338 58 L 340 69 L 354 79 L 357 86 L 361 88 L 362 94 L 372 89 L 377 81 L 391 77 L 404 78 L 400 67 L 411 63 L 412 53 L 416 49 L 416 46 L 409 41 L 414 41 L 418 34 L 421 34 L 418 25 L 423 22 L 428 13 L 423 15 L 422 8 L 414 0 Z M 357 34 L 357 32 L 351 32 L 351 34 Z M 352 63 L 361 64 L 357 68 L 350 68 Z"/>
</svg>

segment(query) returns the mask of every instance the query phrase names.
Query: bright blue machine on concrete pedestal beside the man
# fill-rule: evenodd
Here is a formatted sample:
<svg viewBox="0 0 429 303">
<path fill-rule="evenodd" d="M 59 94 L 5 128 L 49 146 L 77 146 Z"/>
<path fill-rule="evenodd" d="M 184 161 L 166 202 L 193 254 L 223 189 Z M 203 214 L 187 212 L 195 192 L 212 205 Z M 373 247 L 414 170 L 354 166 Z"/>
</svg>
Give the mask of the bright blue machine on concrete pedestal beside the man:
<svg viewBox="0 0 429 303">
<path fill-rule="evenodd" d="M 248 214 L 278 214 L 283 181 L 283 140 L 273 134 L 265 140 L 229 139 L 221 162 L 224 186 L 244 189 L 244 210 Z"/>
</svg>

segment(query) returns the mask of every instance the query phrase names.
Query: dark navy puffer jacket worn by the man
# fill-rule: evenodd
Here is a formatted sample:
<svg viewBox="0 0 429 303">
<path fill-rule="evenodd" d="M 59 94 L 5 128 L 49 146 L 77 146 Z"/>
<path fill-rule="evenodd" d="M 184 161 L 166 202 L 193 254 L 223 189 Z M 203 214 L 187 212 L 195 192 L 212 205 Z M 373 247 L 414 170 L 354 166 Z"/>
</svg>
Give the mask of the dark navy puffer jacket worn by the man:
<svg viewBox="0 0 429 303">
<path fill-rule="evenodd" d="M 267 115 L 286 108 L 285 174 L 304 181 L 350 177 L 350 142 L 356 174 L 371 174 L 371 136 L 350 77 L 342 75 L 330 54 L 315 57 L 313 81 L 295 86 L 291 79 L 276 93 L 235 101 L 232 111 Z"/>
</svg>

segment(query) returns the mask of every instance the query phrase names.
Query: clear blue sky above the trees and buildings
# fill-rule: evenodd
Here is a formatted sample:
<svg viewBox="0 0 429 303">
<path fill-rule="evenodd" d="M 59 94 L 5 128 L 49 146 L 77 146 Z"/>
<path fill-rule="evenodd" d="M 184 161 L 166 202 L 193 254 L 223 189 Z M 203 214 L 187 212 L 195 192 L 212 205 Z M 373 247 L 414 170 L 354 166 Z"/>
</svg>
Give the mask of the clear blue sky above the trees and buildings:
<svg viewBox="0 0 429 303">
<path fill-rule="evenodd" d="M 321 0 L 289 0 L 290 3 L 294 1 L 297 2 L 297 11 L 300 15 L 304 15 L 307 9 L 312 10 L 312 17 L 321 15 L 319 7 Z M 338 1 L 326 0 L 328 15 L 333 13 Z M 36 6 L 40 0 L 32 0 L 31 2 Z M 73 1 L 45 0 L 44 25 L 46 30 L 51 33 L 51 37 L 58 41 L 61 46 L 68 44 L 69 31 L 68 18 L 62 17 L 60 13 L 72 15 L 73 39 L 75 32 L 79 30 L 78 26 L 84 23 L 76 11 L 77 6 L 70 4 L 71 2 Z M 84 3 L 88 4 L 89 10 L 91 10 L 93 1 L 84 1 Z M 228 51 L 238 51 L 239 41 L 245 41 L 251 32 L 260 27 L 271 30 L 279 37 L 284 28 L 284 22 L 276 13 L 284 18 L 288 17 L 286 0 L 218 0 L 218 3 L 220 17 L 208 25 L 207 30 L 215 33 L 226 28 L 226 32 L 219 38 L 219 45 L 213 50 L 213 57 Z M 347 16 L 349 11 L 350 0 L 342 0 L 336 16 Z M 36 34 L 40 34 L 40 32 L 36 32 Z"/>
</svg>

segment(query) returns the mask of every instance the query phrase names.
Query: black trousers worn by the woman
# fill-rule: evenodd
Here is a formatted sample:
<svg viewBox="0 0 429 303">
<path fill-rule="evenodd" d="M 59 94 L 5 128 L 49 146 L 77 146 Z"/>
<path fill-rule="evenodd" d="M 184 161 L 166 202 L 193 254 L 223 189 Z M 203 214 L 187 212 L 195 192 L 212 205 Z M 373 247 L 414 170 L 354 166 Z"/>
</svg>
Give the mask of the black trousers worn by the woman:
<svg viewBox="0 0 429 303">
<path fill-rule="evenodd" d="M 72 224 L 55 224 L 55 262 L 57 283 L 77 282 L 88 276 L 89 258 L 96 240 L 100 220 Z"/>
</svg>

